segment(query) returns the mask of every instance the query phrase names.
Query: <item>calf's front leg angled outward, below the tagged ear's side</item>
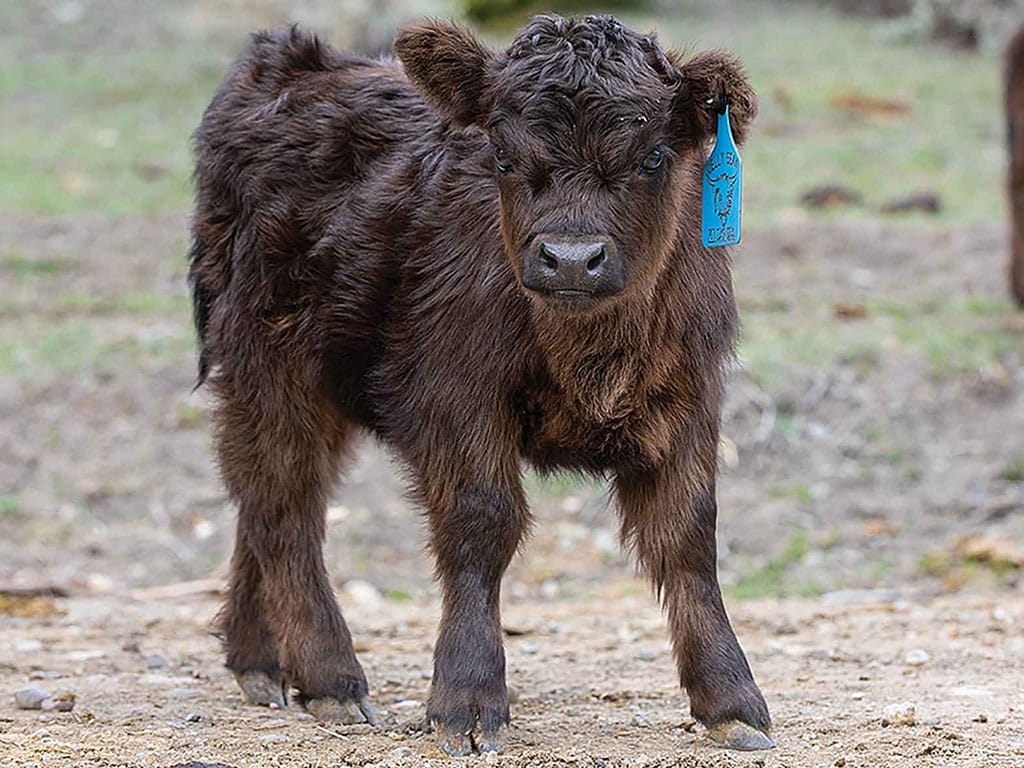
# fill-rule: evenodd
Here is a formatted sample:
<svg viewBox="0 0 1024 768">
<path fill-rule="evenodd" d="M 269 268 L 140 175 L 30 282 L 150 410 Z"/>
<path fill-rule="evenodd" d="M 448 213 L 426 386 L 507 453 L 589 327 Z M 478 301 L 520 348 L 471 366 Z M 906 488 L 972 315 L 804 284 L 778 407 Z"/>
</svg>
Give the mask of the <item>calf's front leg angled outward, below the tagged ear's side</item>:
<svg viewBox="0 0 1024 768">
<path fill-rule="evenodd" d="M 770 749 L 768 708 L 718 584 L 714 469 L 714 449 L 705 445 L 702 456 L 688 450 L 654 469 L 621 473 L 616 492 L 624 538 L 635 547 L 668 611 L 679 679 L 693 717 L 726 746 Z"/>
</svg>

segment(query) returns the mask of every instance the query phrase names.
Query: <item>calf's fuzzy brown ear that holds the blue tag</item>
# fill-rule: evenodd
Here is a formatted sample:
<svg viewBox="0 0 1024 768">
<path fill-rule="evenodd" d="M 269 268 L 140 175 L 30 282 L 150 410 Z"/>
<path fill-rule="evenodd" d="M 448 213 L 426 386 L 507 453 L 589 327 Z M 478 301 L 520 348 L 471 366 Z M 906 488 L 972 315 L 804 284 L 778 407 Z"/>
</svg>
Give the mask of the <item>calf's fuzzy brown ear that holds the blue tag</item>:
<svg viewBox="0 0 1024 768">
<path fill-rule="evenodd" d="M 678 71 L 681 83 L 673 105 L 676 135 L 702 144 L 716 132 L 718 115 L 727 101 L 732 135 L 741 144 L 758 114 L 758 97 L 739 59 L 724 51 L 707 51 L 678 65 Z"/>
</svg>

